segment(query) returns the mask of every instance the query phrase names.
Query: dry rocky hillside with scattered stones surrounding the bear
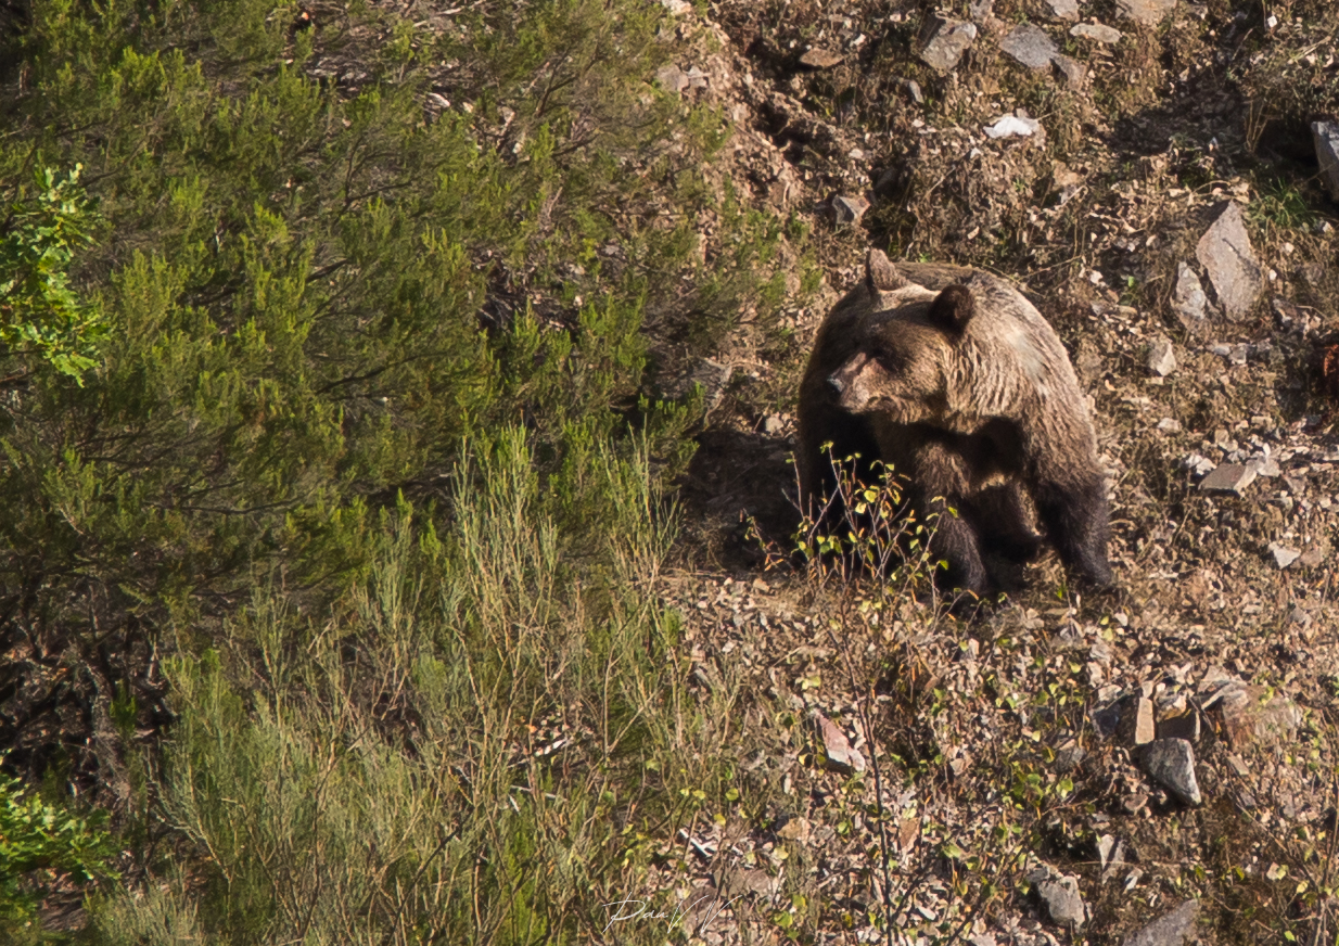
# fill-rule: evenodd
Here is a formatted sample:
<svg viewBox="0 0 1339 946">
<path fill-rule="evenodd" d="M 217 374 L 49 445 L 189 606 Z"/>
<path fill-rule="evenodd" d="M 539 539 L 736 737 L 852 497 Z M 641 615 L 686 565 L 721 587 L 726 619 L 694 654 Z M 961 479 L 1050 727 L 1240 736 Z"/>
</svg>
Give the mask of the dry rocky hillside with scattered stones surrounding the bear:
<svg viewBox="0 0 1339 946">
<path fill-rule="evenodd" d="M 686 487 L 696 680 L 751 708 L 739 756 L 774 792 L 765 830 L 682 839 L 680 883 L 753 905 L 707 942 L 1334 938 L 1336 24 L 1300 3 L 683 13 L 700 54 L 661 80 L 736 118 L 735 179 L 813 221 L 828 276 L 785 357 L 743 332 L 716 356 Z M 1007 274 L 1056 326 L 1111 472 L 1117 591 L 1047 561 L 959 621 L 759 575 L 740 512 L 783 550 L 798 372 L 866 246 Z M 815 719 L 858 775 L 823 771 Z"/>
</svg>

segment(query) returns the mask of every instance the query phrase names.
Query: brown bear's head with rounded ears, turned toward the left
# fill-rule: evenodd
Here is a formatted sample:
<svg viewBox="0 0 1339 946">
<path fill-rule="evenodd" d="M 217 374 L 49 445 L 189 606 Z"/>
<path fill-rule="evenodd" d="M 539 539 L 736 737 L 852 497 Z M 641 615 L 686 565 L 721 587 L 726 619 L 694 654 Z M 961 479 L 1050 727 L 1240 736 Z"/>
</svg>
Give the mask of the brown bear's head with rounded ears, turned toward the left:
<svg viewBox="0 0 1339 946">
<path fill-rule="evenodd" d="M 939 419 L 948 411 L 956 349 L 976 310 L 972 293 L 951 285 L 936 296 L 908 285 L 877 250 L 866 262 L 865 290 L 873 312 L 854 326 L 852 355 L 828 376 L 837 404 L 902 424 Z"/>
</svg>

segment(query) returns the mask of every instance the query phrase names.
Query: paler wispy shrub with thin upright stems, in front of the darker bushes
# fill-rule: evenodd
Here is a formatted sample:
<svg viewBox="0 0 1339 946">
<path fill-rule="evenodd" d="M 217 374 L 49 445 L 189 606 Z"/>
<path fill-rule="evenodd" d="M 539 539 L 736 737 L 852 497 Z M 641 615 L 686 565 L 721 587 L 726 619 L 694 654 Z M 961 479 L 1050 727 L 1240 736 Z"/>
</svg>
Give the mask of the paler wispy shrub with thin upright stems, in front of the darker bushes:
<svg viewBox="0 0 1339 946">
<path fill-rule="evenodd" d="M 236 943 L 603 926 L 599 905 L 635 880 L 615 806 L 676 820 L 645 776 L 702 721 L 678 709 L 674 624 L 645 591 L 671 534 L 645 456 L 592 458 L 621 502 L 577 581 L 525 443 L 471 451 L 442 535 L 406 503 L 383 514 L 366 582 L 331 613 L 270 583 L 218 650 L 167 665 L 162 804 L 205 883 L 102 905 L 108 942 L 163 910 Z"/>
</svg>

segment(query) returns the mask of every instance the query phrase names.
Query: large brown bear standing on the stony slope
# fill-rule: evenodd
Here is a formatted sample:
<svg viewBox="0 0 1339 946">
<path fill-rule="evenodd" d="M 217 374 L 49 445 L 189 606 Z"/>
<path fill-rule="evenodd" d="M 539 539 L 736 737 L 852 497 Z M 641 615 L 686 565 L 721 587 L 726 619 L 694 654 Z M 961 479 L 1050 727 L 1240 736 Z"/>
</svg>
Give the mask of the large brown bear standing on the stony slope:
<svg viewBox="0 0 1339 946">
<path fill-rule="evenodd" d="M 802 502 L 821 508 L 833 490 L 825 444 L 860 454 L 866 482 L 881 460 L 908 479 L 912 510 L 937 515 L 931 553 L 951 586 L 991 587 L 983 551 L 1034 554 L 1034 511 L 1066 566 L 1111 582 L 1086 399 L 1054 329 L 1008 282 L 870 252 L 864 284 L 818 329 L 798 420 Z"/>
</svg>

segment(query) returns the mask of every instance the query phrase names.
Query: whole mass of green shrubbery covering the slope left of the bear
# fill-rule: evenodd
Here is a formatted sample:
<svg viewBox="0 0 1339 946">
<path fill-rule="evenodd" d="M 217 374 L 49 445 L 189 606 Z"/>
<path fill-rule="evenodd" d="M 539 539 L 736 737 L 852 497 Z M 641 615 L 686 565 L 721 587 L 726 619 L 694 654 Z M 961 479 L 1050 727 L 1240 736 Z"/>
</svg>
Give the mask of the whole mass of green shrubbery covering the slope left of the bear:
<svg viewBox="0 0 1339 946">
<path fill-rule="evenodd" d="M 728 772 L 656 597 L 700 403 L 648 395 L 645 313 L 766 316 L 781 226 L 710 186 L 655 4 L 292 15 L 35 0 L 17 50 L 0 179 L 83 165 L 107 333 L 0 401 L 0 590 L 68 665 L 163 654 L 174 715 L 94 938 L 589 939 Z"/>
</svg>

